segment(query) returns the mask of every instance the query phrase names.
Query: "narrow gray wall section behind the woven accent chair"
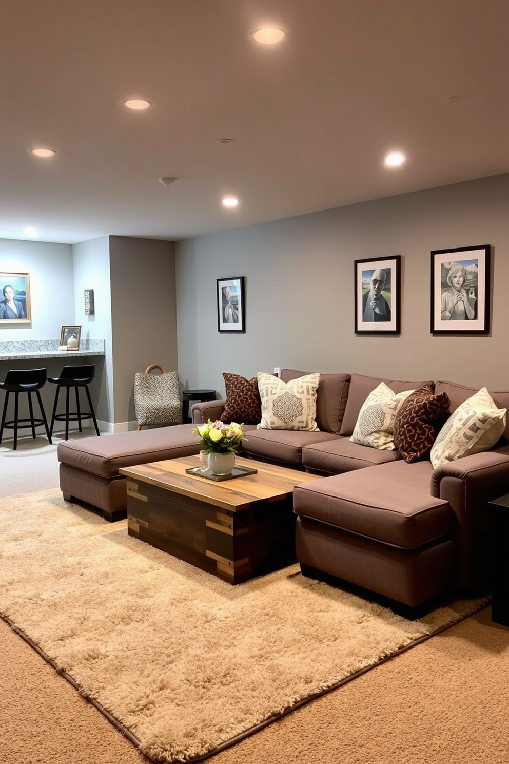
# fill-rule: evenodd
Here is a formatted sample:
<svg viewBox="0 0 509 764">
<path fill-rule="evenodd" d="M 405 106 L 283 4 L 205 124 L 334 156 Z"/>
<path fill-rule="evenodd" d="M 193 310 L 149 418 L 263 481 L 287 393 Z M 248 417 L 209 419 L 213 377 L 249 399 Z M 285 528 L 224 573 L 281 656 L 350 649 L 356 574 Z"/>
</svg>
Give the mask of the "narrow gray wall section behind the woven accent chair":
<svg viewBox="0 0 509 764">
<path fill-rule="evenodd" d="M 115 430 L 135 424 L 134 373 L 177 368 L 175 245 L 109 237 Z"/>
</svg>

